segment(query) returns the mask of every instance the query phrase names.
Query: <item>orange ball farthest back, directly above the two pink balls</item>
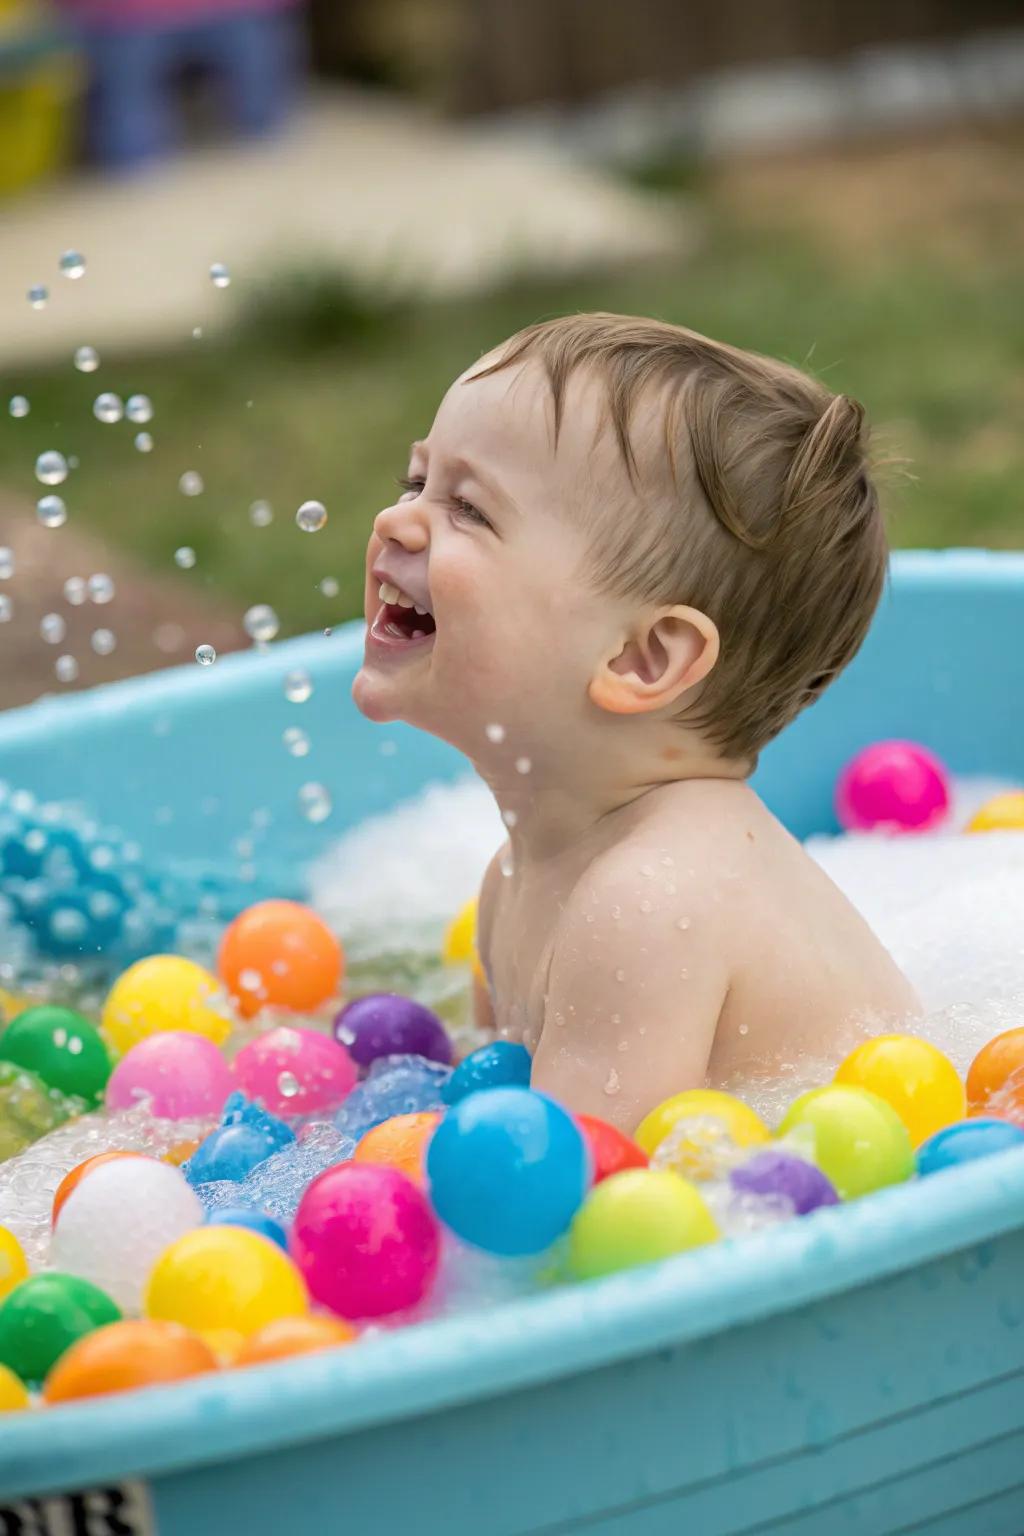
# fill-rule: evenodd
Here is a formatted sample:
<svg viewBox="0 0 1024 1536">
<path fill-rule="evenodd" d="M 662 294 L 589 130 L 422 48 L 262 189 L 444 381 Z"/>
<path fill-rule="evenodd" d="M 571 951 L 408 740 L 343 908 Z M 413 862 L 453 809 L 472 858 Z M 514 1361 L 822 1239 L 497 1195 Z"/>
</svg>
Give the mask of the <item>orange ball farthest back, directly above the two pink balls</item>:
<svg viewBox="0 0 1024 1536">
<path fill-rule="evenodd" d="M 344 954 L 327 923 L 298 902 L 258 902 L 221 940 L 218 969 L 238 1012 L 261 1008 L 309 1014 L 336 997 Z"/>
</svg>

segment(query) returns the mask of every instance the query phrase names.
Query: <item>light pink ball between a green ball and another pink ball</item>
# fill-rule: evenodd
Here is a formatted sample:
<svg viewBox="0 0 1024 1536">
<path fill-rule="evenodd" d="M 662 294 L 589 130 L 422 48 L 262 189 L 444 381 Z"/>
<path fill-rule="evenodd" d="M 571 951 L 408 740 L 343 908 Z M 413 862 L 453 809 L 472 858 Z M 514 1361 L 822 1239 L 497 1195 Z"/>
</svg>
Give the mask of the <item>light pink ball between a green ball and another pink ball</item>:
<svg viewBox="0 0 1024 1536">
<path fill-rule="evenodd" d="M 160 1120 L 220 1115 L 233 1087 L 227 1061 L 212 1040 L 167 1029 L 147 1035 L 121 1057 L 106 1086 L 107 1109 L 149 1100 Z"/>
</svg>

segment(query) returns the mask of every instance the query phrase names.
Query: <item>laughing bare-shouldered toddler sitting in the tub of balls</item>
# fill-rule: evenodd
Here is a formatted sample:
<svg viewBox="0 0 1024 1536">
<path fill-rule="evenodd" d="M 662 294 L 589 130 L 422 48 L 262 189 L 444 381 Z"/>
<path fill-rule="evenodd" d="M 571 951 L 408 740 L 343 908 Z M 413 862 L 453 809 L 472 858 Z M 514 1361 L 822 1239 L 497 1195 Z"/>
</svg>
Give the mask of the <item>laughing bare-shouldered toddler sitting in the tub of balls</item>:
<svg viewBox="0 0 1024 1536">
<path fill-rule="evenodd" d="M 680 326 L 530 326 L 451 386 L 367 550 L 358 707 L 461 748 L 508 828 L 479 1012 L 634 1129 L 918 1011 L 749 788 L 886 578 L 861 407 Z"/>
</svg>

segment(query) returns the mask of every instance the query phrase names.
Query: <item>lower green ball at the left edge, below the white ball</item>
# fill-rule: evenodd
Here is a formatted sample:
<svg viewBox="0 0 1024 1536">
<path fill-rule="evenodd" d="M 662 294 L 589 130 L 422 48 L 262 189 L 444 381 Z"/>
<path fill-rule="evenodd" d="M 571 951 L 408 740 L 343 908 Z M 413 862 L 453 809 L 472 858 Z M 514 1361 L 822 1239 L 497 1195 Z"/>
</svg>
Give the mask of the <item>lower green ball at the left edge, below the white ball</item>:
<svg viewBox="0 0 1024 1536">
<path fill-rule="evenodd" d="M 120 1316 L 106 1292 L 88 1279 L 32 1275 L 0 1307 L 0 1362 L 38 1387 L 75 1339 Z"/>
</svg>

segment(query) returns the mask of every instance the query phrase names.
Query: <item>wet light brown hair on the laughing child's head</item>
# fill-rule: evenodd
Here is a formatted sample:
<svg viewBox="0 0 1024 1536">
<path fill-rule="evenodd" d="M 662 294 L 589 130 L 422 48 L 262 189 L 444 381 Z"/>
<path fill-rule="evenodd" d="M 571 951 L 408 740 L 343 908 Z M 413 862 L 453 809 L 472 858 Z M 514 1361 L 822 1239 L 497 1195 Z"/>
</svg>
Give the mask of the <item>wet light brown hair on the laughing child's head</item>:
<svg viewBox="0 0 1024 1536">
<path fill-rule="evenodd" d="M 602 312 L 527 326 L 471 378 L 528 359 L 551 386 L 556 447 L 570 376 L 603 381 L 637 502 L 586 508 L 590 574 L 599 590 L 714 619 L 718 662 L 680 719 L 755 760 L 855 656 L 881 596 L 863 407 L 774 358 Z M 657 407 L 654 465 L 631 435 L 642 401 Z"/>
</svg>

